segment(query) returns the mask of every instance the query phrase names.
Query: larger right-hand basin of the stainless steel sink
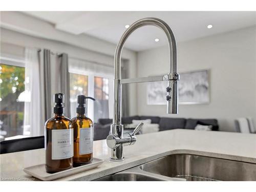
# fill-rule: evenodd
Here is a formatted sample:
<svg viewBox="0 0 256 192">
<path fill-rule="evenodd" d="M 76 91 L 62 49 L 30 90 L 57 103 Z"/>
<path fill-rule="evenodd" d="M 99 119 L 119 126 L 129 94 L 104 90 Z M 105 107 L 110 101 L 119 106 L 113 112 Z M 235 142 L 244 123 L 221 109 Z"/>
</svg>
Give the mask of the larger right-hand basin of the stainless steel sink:
<svg viewBox="0 0 256 192">
<path fill-rule="evenodd" d="M 169 155 L 140 168 L 187 181 L 256 181 L 256 164 L 188 154 Z"/>
</svg>

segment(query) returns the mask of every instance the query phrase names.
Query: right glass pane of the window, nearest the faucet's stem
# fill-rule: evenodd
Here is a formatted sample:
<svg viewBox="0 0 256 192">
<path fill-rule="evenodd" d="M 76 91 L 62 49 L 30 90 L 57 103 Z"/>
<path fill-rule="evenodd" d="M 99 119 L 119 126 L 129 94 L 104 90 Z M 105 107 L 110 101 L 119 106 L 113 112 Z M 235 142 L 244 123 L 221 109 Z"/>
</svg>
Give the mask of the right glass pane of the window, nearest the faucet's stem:
<svg viewBox="0 0 256 192">
<path fill-rule="evenodd" d="M 109 79 L 94 77 L 94 121 L 109 118 Z"/>
</svg>

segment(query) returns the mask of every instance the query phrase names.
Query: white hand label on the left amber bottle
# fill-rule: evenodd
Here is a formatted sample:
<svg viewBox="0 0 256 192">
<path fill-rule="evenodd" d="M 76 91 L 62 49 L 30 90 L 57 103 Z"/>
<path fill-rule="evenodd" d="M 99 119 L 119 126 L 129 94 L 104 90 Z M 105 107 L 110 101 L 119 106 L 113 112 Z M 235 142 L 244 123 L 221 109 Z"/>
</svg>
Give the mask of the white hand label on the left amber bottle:
<svg viewBox="0 0 256 192">
<path fill-rule="evenodd" d="M 52 159 L 74 156 L 74 129 L 52 130 Z"/>
</svg>

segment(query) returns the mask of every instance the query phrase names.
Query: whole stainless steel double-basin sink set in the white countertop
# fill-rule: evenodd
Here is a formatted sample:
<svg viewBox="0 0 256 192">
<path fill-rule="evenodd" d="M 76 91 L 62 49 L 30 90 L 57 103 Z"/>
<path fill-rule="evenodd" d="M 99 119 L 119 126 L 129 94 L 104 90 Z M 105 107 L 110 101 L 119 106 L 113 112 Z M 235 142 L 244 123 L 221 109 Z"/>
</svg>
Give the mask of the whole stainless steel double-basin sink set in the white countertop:
<svg viewBox="0 0 256 192">
<path fill-rule="evenodd" d="M 173 154 L 96 181 L 256 181 L 256 164 Z"/>
</svg>

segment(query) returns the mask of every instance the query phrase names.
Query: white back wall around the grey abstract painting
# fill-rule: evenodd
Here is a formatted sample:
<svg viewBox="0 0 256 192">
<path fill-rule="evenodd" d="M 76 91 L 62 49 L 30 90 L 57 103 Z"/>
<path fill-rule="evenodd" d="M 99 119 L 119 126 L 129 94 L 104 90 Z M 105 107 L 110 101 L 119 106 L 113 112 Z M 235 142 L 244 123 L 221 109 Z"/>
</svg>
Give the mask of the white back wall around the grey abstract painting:
<svg viewBox="0 0 256 192">
<path fill-rule="evenodd" d="M 235 131 L 234 119 L 253 117 L 256 125 L 256 28 L 246 28 L 178 43 L 178 72 L 210 69 L 210 103 L 179 105 L 178 115 L 165 105 L 146 104 L 146 83 L 137 86 L 138 114 L 217 118 L 221 131 Z M 138 76 L 165 74 L 168 48 L 138 53 Z"/>
</svg>

